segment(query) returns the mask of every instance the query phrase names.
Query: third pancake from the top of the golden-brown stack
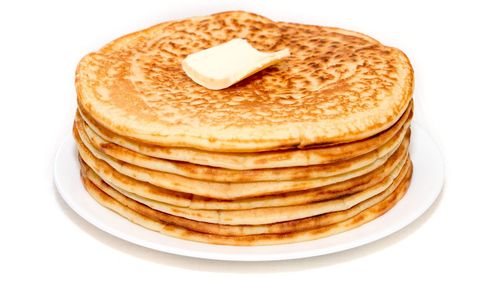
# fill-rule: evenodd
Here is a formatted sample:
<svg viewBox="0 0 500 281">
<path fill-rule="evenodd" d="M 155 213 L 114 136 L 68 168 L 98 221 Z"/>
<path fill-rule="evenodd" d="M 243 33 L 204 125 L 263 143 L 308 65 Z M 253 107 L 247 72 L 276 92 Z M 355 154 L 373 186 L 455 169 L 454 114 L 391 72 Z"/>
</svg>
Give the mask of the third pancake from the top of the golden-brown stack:
<svg viewBox="0 0 500 281">
<path fill-rule="evenodd" d="M 93 133 L 90 128 L 86 127 L 78 115 L 76 117 L 75 127 L 77 128 L 79 136 L 85 146 L 91 151 L 95 151 L 95 153 L 93 153 L 94 155 L 104 154 L 111 157 L 111 159 L 115 159 L 116 161 L 123 161 L 128 164 L 154 171 L 217 182 L 286 181 L 331 177 L 368 166 L 379 159 L 381 155 L 386 152 L 383 148 L 378 148 L 364 155 L 323 165 L 258 170 L 231 170 L 202 166 L 187 162 L 158 159 L 139 154 L 127 148 L 103 140 L 101 137 Z M 406 131 L 408 127 L 409 122 L 407 122 L 403 128 L 400 129 L 400 132 L 393 137 L 394 140 L 389 140 L 388 142 L 397 141 L 398 136 Z"/>
</svg>

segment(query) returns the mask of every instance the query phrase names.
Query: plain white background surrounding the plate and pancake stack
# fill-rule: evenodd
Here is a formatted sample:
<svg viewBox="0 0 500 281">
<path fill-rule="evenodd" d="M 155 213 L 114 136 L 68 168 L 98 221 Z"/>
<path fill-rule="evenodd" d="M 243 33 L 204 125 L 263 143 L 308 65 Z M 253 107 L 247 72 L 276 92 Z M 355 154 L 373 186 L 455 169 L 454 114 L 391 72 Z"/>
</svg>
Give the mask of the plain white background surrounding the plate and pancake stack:
<svg viewBox="0 0 500 281">
<path fill-rule="evenodd" d="M 2 1 L 0 279 L 498 280 L 500 8 L 494 2 Z M 408 54 L 416 74 L 416 118 L 446 161 L 444 192 L 423 217 L 343 253 L 231 263 L 123 242 L 67 207 L 52 169 L 76 108 L 79 59 L 161 21 L 232 9 L 353 29 Z"/>
</svg>

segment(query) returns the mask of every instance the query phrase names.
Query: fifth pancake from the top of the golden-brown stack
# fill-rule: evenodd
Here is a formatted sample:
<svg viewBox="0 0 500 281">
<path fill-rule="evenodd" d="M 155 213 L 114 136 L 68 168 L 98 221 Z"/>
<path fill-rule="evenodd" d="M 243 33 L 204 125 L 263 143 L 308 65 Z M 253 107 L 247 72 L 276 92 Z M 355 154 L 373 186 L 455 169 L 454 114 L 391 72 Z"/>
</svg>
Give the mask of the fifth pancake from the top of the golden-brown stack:
<svg viewBox="0 0 500 281">
<path fill-rule="evenodd" d="M 347 181 L 333 185 L 310 189 L 306 191 L 296 191 L 281 193 L 277 195 L 260 196 L 240 200 L 216 200 L 192 194 L 175 192 L 160 188 L 149 183 L 134 180 L 115 171 L 104 161 L 90 159 L 88 163 L 82 161 L 82 165 L 90 165 L 91 169 L 98 174 L 108 185 L 115 189 L 125 190 L 136 195 L 149 198 L 167 204 L 189 207 L 191 209 L 225 209 L 240 210 L 265 207 L 279 207 L 290 205 L 301 205 L 323 200 L 338 198 L 340 196 L 363 191 L 371 186 L 380 183 L 394 172 L 397 165 L 406 161 L 408 138 L 401 144 L 398 150 L 376 170 Z M 95 161 L 94 161 L 95 160 Z M 101 165 L 97 165 L 100 162 Z"/>
</svg>

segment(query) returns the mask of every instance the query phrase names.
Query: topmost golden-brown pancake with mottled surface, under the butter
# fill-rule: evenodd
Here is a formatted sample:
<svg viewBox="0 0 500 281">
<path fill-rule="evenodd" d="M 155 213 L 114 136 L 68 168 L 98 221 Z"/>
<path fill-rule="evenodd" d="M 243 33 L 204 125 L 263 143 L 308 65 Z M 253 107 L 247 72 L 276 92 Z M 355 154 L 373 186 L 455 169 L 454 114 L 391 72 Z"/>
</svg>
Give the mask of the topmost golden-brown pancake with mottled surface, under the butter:
<svg viewBox="0 0 500 281">
<path fill-rule="evenodd" d="M 189 54 L 234 38 L 291 56 L 224 90 L 181 69 Z M 413 71 L 399 50 L 338 28 L 277 23 L 246 12 L 166 22 L 80 62 L 80 110 L 145 143 L 257 152 L 356 141 L 394 124 Z"/>
</svg>

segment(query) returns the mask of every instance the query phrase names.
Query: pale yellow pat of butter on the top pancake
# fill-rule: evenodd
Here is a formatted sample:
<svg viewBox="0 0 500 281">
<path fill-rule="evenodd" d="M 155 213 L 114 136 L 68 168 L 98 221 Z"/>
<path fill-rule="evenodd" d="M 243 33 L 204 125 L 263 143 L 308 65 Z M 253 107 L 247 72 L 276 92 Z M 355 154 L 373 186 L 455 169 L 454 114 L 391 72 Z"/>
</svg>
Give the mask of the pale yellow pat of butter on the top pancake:
<svg viewBox="0 0 500 281">
<path fill-rule="evenodd" d="M 290 56 L 288 49 L 274 53 L 256 50 L 247 40 L 233 39 L 221 45 L 190 54 L 182 69 L 201 86 L 220 90 Z"/>
</svg>

